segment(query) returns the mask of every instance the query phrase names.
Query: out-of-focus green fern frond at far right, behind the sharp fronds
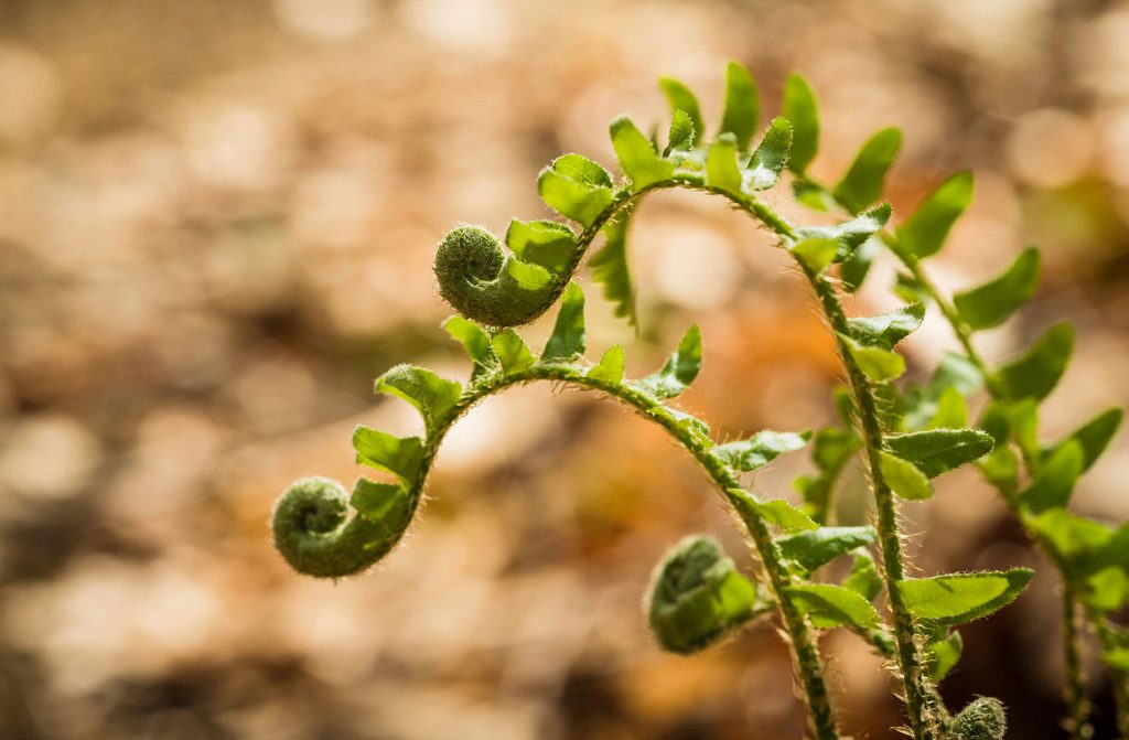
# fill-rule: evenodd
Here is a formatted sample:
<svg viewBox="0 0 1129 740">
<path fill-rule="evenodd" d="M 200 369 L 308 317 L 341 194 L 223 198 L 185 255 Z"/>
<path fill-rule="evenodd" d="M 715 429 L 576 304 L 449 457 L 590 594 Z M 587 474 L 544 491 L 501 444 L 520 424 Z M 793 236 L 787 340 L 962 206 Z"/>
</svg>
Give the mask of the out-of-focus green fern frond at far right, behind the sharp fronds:
<svg viewBox="0 0 1129 740">
<path fill-rule="evenodd" d="M 789 81 L 788 96 L 794 106 L 808 111 L 809 120 L 817 120 L 814 95 L 800 78 Z M 881 197 L 900 142 L 896 129 L 875 133 L 843 181 L 833 188 L 816 182 L 793 160 L 798 200 L 816 210 L 860 212 Z M 875 183 L 865 197 L 849 184 L 851 173 L 857 172 L 869 173 Z M 848 290 L 858 289 L 870 262 L 885 249 L 902 268 L 895 291 L 936 306 L 952 328 L 962 352 L 947 355 L 928 384 L 894 399 L 893 423 L 908 430 L 964 426 L 969 397 L 986 391 L 988 403 L 977 426 L 992 436 L 995 449 L 978 467 L 1048 555 L 1061 583 L 1064 728 L 1075 740 L 1093 733 L 1082 668 L 1084 633 L 1092 629 L 1111 673 L 1118 733 L 1129 738 L 1129 632 L 1113 621 L 1129 603 L 1129 524 L 1096 521 L 1068 508 L 1078 479 L 1105 452 L 1123 412 L 1106 409 L 1060 439 L 1040 441 L 1039 406 L 1058 385 L 1074 348 L 1074 329 L 1068 323 L 1053 325 L 998 367 L 980 355 L 974 336 L 1004 324 L 1034 295 L 1040 255 L 1035 247 L 1027 247 L 1001 273 L 978 286 L 953 296 L 938 289 L 924 262 L 944 247 L 949 230 L 971 202 L 972 185 L 969 172 L 937 185 L 896 229 L 876 234 L 856 251 L 843 264 L 843 285 Z"/>
</svg>

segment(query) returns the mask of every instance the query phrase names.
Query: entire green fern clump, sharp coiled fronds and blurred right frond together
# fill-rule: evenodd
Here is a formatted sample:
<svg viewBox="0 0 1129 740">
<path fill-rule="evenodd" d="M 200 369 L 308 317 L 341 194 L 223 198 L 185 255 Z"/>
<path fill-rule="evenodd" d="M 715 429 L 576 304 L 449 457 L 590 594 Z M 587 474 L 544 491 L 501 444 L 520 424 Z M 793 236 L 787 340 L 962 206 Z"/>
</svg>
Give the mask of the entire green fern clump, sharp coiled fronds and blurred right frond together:
<svg viewBox="0 0 1129 740">
<path fill-rule="evenodd" d="M 952 298 L 929 280 L 922 262 L 936 254 L 969 203 L 972 179 L 942 183 L 896 228 L 891 208 L 877 203 L 901 143 L 895 129 L 875 134 L 833 185 L 807 167 L 819 150 L 820 117 L 808 85 L 791 76 L 782 114 L 758 137 L 760 102 L 749 71 L 730 63 L 725 110 L 712 139 L 693 93 L 673 79 L 660 81 L 671 104 L 665 141 L 648 137 L 630 119 L 611 124 L 623 176 L 579 154 L 566 154 L 537 179 L 544 202 L 571 224 L 514 219 L 499 240 L 488 230 L 458 226 L 440 242 L 435 272 L 440 294 L 457 312 L 444 329 L 466 350 L 465 383 L 417 366 L 399 365 L 376 381 L 378 393 L 414 406 L 423 434 L 396 437 L 359 427 L 353 446 L 360 464 L 391 473 L 360 478 L 352 491 L 323 479 L 296 481 L 273 515 L 274 541 L 300 573 L 340 577 L 359 573 L 391 551 L 419 506 L 436 453 L 455 421 L 478 401 L 514 385 L 549 381 L 598 391 L 662 426 L 692 455 L 732 507 L 760 564 L 744 575 L 717 542 L 692 536 L 656 567 L 647 597 L 650 627 L 666 648 L 702 650 L 754 619 L 776 615 L 790 645 L 794 674 L 808 729 L 819 740 L 840 737 L 820 656 L 822 632 L 846 627 L 887 659 L 901 682 L 908 732 L 916 740 L 1003 738 L 1004 708 L 981 697 L 955 715 L 937 682 L 956 664 L 956 626 L 986 617 L 1016 599 L 1033 573 L 940 574 L 910 577 L 899 530 L 899 507 L 933 496 L 931 480 L 975 462 L 988 481 L 1047 549 L 1062 577 L 1068 658 L 1067 726 L 1087 732 L 1078 632 L 1093 626 L 1103 658 L 1124 697 L 1129 637 L 1111 619 L 1129 594 L 1126 554 L 1129 530 L 1114 530 L 1067 511 L 1070 490 L 1108 445 L 1120 421 L 1109 411 L 1067 438 L 1041 443 L 1039 402 L 1054 388 L 1070 354 L 1073 333 L 1051 329 L 1032 348 L 1000 367 L 989 367 L 973 332 L 998 325 L 1034 291 L 1038 253 L 1023 252 L 1000 277 Z M 761 192 L 790 181 L 795 198 L 846 217 L 831 225 L 791 224 Z M 719 444 L 709 426 L 674 406 L 702 364 L 702 338 L 691 327 L 669 359 L 641 378 L 624 376 L 623 348 L 585 358 L 585 296 L 574 280 L 588 260 L 618 316 L 637 322 L 627 243 L 633 207 L 647 193 L 683 189 L 718 195 L 767 227 L 795 261 L 832 332 L 847 386 L 837 393 L 840 421 L 808 432 L 763 430 Z M 905 305 L 890 314 L 848 316 L 843 291 L 866 279 L 883 250 L 903 267 L 894 290 Z M 551 337 L 539 355 L 515 327 L 559 306 Z M 962 352 L 946 356 L 925 384 L 899 383 L 905 360 L 896 345 L 935 306 L 952 324 Z M 593 355 L 595 357 L 596 355 Z M 987 391 L 989 402 L 970 425 L 968 399 Z M 776 456 L 811 447 L 815 471 L 796 481 L 797 508 L 754 490 L 750 475 Z M 873 526 L 834 526 L 834 489 L 849 461 L 860 458 L 874 496 Z M 352 511 L 350 511 L 352 510 Z M 839 583 L 823 566 L 851 558 Z M 879 604 L 881 609 L 875 604 Z M 1120 708 L 1122 731 L 1127 709 Z"/>
</svg>

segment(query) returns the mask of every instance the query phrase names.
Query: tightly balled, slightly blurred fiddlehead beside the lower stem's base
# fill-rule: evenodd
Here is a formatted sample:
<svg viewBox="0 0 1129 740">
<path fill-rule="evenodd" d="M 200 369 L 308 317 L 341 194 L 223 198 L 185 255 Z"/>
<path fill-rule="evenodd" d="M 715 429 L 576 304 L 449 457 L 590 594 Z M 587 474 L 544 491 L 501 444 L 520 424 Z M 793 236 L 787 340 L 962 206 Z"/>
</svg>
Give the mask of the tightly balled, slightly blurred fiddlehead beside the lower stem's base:
<svg viewBox="0 0 1129 740">
<path fill-rule="evenodd" d="M 665 650 L 680 654 L 703 650 L 771 609 L 717 541 L 701 534 L 667 551 L 655 568 L 649 594 L 651 632 Z"/>
</svg>

